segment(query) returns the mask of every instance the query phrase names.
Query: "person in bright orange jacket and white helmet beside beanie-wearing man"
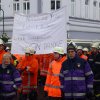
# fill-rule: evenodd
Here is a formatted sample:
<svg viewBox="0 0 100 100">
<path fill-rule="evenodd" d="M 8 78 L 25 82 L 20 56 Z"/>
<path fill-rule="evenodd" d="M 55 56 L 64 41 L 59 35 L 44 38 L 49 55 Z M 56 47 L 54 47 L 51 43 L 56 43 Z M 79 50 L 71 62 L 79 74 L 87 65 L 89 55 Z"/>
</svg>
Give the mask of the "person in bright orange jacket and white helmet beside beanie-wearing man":
<svg viewBox="0 0 100 100">
<path fill-rule="evenodd" d="M 54 60 L 50 63 L 44 91 L 47 92 L 49 100 L 61 100 L 61 85 L 59 81 L 62 63 L 66 60 L 62 47 L 54 48 Z"/>
</svg>

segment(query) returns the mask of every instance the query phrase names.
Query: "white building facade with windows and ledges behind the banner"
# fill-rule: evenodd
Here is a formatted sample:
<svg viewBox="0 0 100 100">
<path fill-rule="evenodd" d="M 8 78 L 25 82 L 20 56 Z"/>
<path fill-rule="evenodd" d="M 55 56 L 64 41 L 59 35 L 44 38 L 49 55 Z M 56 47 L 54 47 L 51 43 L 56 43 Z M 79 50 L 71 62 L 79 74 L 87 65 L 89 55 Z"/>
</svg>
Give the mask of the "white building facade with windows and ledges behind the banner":
<svg viewBox="0 0 100 100">
<path fill-rule="evenodd" d="M 100 0 L 0 0 L 4 11 L 4 30 L 11 37 L 15 13 L 48 13 L 66 6 L 68 39 L 77 41 L 100 40 Z M 0 11 L 0 34 L 3 31 Z"/>
</svg>

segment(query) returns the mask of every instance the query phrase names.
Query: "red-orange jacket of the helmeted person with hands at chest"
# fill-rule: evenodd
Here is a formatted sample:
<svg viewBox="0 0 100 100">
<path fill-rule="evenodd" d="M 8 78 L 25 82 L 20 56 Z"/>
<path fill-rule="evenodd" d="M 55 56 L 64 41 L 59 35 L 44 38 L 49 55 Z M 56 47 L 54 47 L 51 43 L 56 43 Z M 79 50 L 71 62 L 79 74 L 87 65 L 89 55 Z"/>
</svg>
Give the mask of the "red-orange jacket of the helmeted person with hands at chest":
<svg viewBox="0 0 100 100">
<path fill-rule="evenodd" d="M 27 71 L 25 67 L 29 66 Z M 22 70 L 22 92 L 28 94 L 31 89 L 37 88 L 38 61 L 34 57 L 25 57 L 18 65 L 18 69 Z"/>
</svg>

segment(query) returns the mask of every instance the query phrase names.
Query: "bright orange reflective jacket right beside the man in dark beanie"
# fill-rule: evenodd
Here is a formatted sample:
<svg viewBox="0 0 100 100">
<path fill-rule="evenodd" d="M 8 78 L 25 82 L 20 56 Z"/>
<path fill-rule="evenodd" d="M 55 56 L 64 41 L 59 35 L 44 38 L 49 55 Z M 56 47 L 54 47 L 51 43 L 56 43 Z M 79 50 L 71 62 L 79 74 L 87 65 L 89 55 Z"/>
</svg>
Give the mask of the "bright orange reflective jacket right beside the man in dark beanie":
<svg viewBox="0 0 100 100">
<path fill-rule="evenodd" d="M 63 57 L 59 61 L 52 61 L 46 78 L 46 83 L 44 91 L 48 92 L 48 96 L 51 97 L 61 97 L 61 85 L 59 80 L 59 74 L 62 63 L 66 60 L 66 57 Z"/>
</svg>

